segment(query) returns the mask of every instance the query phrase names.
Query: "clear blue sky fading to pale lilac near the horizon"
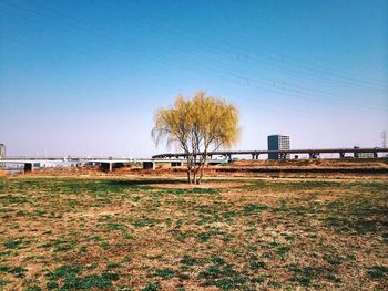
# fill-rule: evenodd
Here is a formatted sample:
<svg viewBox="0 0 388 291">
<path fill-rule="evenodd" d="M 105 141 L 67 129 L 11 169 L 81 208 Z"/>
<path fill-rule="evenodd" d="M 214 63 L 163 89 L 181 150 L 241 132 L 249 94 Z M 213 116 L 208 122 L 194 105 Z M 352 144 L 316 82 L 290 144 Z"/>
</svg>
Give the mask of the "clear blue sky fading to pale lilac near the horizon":
<svg viewBox="0 0 388 291">
<path fill-rule="evenodd" d="M 10 155 L 149 156 L 153 112 L 203 89 L 239 107 L 236 148 L 379 146 L 387 1 L 0 2 Z M 174 149 L 174 148 L 172 148 Z"/>
</svg>

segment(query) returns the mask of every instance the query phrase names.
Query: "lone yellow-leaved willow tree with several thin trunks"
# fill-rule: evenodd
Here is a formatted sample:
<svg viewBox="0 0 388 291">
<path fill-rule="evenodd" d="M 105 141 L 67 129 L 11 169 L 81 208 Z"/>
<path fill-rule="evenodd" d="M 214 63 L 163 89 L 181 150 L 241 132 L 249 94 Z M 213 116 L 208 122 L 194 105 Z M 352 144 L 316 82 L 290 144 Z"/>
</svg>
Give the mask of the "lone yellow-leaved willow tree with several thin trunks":
<svg viewBox="0 0 388 291">
<path fill-rule="evenodd" d="M 238 110 L 225 100 L 197 91 L 192 98 L 178 95 L 170 108 L 155 112 L 152 136 L 185 153 L 188 183 L 200 184 L 208 153 L 238 141 Z"/>
</svg>

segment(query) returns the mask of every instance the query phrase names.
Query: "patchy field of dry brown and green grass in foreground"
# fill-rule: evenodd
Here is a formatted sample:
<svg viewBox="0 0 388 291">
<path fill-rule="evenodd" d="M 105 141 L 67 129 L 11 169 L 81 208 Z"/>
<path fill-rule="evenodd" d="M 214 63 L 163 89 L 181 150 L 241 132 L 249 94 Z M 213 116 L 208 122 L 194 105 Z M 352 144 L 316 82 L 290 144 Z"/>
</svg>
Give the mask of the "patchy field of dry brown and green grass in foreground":
<svg viewBox="0 0 388 291">
<path fill-rule="evenodd" d="M 388 289 L 387 180 L 0 179 L 0 289 Z"/>
</svg>

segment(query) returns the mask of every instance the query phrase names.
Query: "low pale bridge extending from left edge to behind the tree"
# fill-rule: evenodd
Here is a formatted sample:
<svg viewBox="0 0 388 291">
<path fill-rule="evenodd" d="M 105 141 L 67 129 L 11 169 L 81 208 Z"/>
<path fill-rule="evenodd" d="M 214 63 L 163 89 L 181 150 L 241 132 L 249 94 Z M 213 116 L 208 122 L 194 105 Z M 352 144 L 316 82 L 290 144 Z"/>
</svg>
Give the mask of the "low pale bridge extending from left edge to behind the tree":
<svg viewBox="0 0 388 291">
<path fill-rule="evenodd" d="M 61 156 L 48 156 L 48 157 L 33 157 L 33 156 L 4 156 L 0 157 L 0 163 L 4 164 L 24 164 L 24 172 L 31 172 L 34 169 L 35 164 L 41 163 L 94 163 L 101 166 L 103 172 L 112 172 L 114 168 L 123 167 L 124 164 L 129 163 L 141 163 L 143 169 L 155 169 L 156 163 L 170 163 L 172 167 L 182 166 L 183 159 L 181 158 L 125 158 L 125 157 L 61 157 Z M 210 160 L 213 164 L 223 164 L 227 160 L 216 159 Z"/>
</svg>

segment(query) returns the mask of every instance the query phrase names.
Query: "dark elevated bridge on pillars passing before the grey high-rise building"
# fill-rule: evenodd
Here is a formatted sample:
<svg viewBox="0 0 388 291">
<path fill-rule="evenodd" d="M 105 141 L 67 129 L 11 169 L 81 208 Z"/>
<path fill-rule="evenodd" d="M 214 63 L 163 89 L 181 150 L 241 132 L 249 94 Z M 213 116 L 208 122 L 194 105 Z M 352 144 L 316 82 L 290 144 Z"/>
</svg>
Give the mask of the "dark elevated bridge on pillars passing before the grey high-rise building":
<svg viewBox="0 0 388 291">
<path fill-rule="evenodd" d="M 388 153 L 388 148 L 371 147 L 371 148 L 309 148 L 309 149 L 288 149 L 288 150 L 217 150 L 208 152 L 207 156 L 212 159 L 213 156 L 224 156 L 232 159 L 233 155 L 251 155 L 252 159 L 257 159 L 259 155 L 277 154 L 280 159 L 285 159 L 289 154 L 308 154 L 309 158 L 317 158 L 320 154 L 338 154 L 339 158 L 345 158 L 345 154 L 353 154 L 354 157 L 360 157 L 361 154 L 372 154 L 375 158 L 380 153 Z M 202 155 L 202 153 L 198 153 Z M 152 156 L 152 158 L 184 158 L 184 153 L 167 153 Z"/>
</svg>

